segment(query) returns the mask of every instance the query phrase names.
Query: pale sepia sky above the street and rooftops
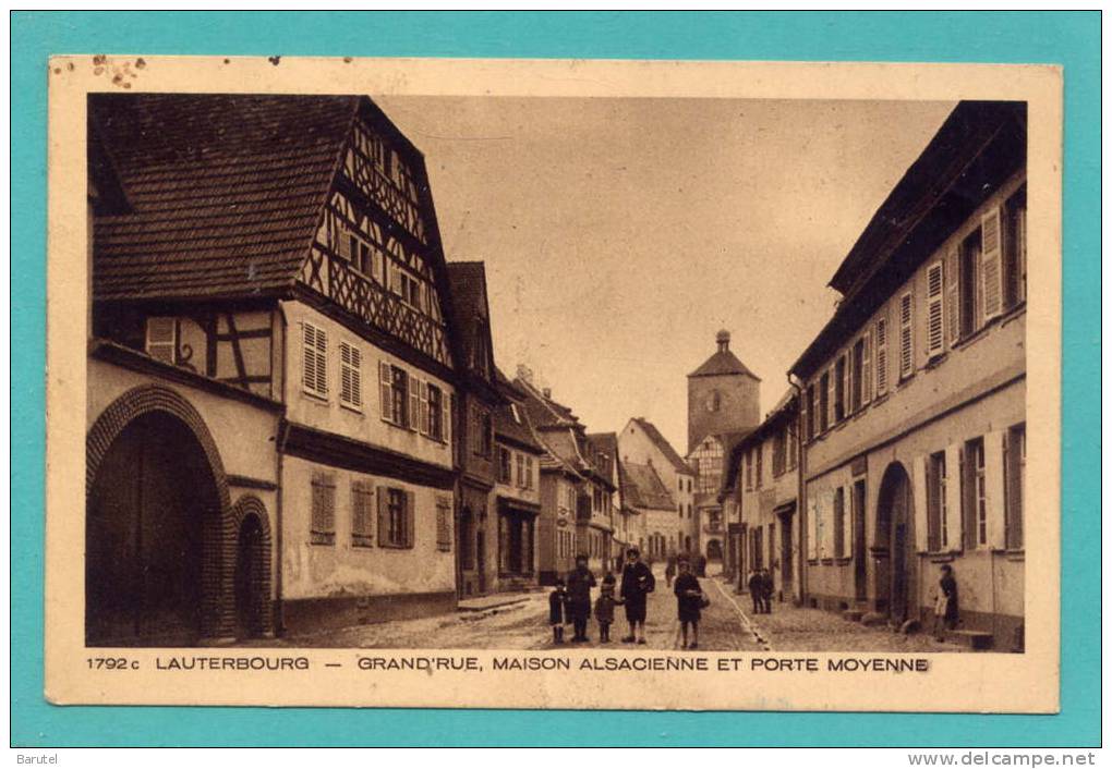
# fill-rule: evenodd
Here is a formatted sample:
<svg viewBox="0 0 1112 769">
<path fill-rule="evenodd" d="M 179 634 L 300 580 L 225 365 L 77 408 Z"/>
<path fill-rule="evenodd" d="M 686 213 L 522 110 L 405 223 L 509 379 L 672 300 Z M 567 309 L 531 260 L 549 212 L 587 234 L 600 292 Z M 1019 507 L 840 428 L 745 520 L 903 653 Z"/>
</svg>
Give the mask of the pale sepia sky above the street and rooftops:
<svg viewBox="0 0 1112 769">
<path fill-rule="evenodd" d="M 826 283 L 952 102 L 374 97 L 425 154 L 448 261 L 484 261 L 495 360 L 590 432 L 683 453 L 687 374 L 727 329 L 761 412 Z"/>
</svg>

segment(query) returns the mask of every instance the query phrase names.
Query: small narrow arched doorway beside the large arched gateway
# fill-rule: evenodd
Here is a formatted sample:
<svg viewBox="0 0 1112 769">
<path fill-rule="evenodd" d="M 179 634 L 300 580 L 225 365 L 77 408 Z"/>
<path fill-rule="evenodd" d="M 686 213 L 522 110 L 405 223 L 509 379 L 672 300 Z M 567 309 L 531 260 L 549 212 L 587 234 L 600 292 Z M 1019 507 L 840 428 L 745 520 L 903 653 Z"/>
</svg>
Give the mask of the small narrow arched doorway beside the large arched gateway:
<svg viewBox="0 0 1112 769">
<path fill-rule="evenodd" d="M 236 637 L 274 635 L 270 603 L 270 526 L 262 502 L 244 497 L 234 509 L 236 538 Z"/>
</svg>

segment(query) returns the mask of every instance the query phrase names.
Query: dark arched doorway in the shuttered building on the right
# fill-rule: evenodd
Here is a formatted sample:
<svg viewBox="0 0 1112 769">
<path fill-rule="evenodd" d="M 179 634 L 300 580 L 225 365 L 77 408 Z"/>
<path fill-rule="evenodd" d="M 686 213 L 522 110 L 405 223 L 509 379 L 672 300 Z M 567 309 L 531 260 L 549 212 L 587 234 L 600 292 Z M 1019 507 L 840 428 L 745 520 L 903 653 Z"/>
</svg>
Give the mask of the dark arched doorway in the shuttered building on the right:
<svg viewBox="0 0 1112 769">
<path fill-rule="evenodd" d="M 873 556 L 876 559 L 876 608 L 894 621 L 902 623 L 909 617 L 909 596 L 912 595 L 913 575 L 911 546 L 914 542 L 912 526 L 911 480 L 900 462 L 884 471 L 876 503 L 876 537 Z"/>
</svg>

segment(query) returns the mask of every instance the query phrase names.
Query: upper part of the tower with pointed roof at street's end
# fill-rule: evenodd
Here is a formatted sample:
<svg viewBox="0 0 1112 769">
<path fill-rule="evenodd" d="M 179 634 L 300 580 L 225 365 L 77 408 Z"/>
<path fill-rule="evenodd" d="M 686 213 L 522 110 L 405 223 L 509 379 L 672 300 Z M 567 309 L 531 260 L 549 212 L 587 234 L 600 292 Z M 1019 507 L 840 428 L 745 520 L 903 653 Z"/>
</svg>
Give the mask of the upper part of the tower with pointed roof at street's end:
<svg viewBox="0 0 1112 769">
<path fill-rule="evenodd" d="M 761 380 L 729 351 L 729 331 L 718 331 L 715 342 L 718 350 L 687 374 L 688 452 L 708 435 L 761 423 Z"/>
</svg>

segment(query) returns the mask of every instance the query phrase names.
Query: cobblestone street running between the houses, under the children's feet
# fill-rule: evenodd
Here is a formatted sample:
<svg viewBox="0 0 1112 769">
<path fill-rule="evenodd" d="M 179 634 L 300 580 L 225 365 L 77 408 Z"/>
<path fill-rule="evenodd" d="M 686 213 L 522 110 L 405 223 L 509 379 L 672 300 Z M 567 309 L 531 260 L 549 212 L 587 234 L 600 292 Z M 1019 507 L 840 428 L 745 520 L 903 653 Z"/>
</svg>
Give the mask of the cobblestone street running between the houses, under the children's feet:
<svg viewBox="0 0 1112 769">
<path fill-rule="evenodd" d="M 383 622 L 319 633 L 288 636 L 278 646 L 376 649 L 679 649 L 676 600 L 657 569 L 657 590 L 649 597 L 646 641 L 623 643 L 628 626 L 620 607 L 610 627 L 610 642 L 600 643 L 598 625 L 592 619 L 586 643 L 552 642 L 548 625 L 548 591 L 540 590 L 520 600 L 480 611 L 459 611 L 424 619 Z M 873 651 L 959 652 L 964 647 L 940 643 L 930 633 L 904 636 L 886 627 L 865 627 L 840 615 L 818 609 L 774 603 L 773 613 L 753 615 L 747 596 L 734 595 L 733 587 L 716 577 L 699 580 L 711 606 L 699 623 L 703 651 Z M 508 597 L 513 600 L 517 597 Z M 572 628 L 566 630 L 567 637 Z"/>
</svg>

